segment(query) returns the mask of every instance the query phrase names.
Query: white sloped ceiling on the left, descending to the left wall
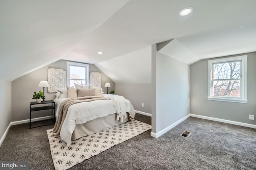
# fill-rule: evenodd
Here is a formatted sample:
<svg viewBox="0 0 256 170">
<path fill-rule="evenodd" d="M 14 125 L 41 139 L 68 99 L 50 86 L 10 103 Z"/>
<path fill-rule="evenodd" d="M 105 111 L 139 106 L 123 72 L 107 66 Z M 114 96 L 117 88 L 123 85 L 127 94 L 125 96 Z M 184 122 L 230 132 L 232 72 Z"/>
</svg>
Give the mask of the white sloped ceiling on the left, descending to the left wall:
<svg viewBox="0 0 256 170">
<path fill-rule="evenodd" d="M 0 1 L 0 79 L 12 81 L 62 59 L 126 2 Z"/>
</svg>

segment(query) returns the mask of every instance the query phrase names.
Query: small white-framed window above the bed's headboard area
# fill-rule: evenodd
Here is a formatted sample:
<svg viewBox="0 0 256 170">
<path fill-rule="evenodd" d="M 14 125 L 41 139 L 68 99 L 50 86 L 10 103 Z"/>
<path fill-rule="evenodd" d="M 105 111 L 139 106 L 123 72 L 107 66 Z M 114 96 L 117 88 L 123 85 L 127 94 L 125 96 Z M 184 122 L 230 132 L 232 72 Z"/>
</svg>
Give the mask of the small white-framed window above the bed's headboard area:
<svg viewBox="0 0 256 170">
<path fill-rule="evenodd" d="M 89 84 L 89 64 L 67 62 L 67 86 Z"/>
</svg>

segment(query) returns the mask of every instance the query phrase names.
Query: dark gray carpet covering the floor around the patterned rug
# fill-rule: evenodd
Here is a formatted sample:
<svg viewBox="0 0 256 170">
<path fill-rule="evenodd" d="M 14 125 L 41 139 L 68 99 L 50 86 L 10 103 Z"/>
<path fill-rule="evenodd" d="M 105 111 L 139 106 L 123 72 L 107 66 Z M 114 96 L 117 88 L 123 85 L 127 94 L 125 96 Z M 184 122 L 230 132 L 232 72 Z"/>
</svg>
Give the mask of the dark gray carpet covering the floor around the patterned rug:
<svg viewBox="0 0 256 170">
<path fill-rule="evenodd" d="M 135 119 L 151 124 L 151 117 Z M 0 160 L 26 160 L 29 169 L 54 169 L 46 130 L 12 126 L 0 147 Z M 185 130 L 188 138 L 180 136 Z M 189 117 L 158 139 L 146 131 L 84 162 L 75 169 L 256 169 L 256 129 Z"/>
</svg>

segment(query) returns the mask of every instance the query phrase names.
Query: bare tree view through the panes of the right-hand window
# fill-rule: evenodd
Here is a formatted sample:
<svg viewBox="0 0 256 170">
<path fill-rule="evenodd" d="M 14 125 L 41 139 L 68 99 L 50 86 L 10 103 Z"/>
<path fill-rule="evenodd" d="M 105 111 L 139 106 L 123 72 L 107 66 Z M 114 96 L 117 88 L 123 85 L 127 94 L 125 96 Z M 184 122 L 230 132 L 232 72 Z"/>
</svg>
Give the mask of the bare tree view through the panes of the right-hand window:
<svg viewBox="0 0 256 170">
<path fill-rule="evenodd" d="M 212 68 L 214 96 L 240 98 L 241 61 L 216 63 Z"/>
</svg>

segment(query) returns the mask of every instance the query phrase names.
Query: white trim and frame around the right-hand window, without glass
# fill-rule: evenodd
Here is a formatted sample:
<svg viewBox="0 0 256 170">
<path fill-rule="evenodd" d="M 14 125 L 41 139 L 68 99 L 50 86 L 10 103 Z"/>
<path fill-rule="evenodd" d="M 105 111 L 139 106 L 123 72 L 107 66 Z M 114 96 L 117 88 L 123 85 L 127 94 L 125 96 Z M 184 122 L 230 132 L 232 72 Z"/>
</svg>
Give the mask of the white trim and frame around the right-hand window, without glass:
<svg viewBox="0 0 256 170">
<path fill-rule="evenodd" d="M 232 98 L 225 96 L 213 96 L 212 92 L 212 64 L 220 62 L 230 62 L 242 60 L 241 72 L 242 72 L 242 83 L 241 83 L 241 97 Z M 222 102 L 238 102 L 238 103 L 247 103 L 247 55 L 237 56 L 237 57 L 228 57 L 222 59 L 215 59 L 208 61 L 208 100 L 216 100 Z"/>
</svg>

